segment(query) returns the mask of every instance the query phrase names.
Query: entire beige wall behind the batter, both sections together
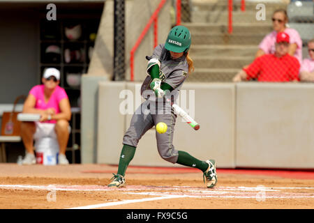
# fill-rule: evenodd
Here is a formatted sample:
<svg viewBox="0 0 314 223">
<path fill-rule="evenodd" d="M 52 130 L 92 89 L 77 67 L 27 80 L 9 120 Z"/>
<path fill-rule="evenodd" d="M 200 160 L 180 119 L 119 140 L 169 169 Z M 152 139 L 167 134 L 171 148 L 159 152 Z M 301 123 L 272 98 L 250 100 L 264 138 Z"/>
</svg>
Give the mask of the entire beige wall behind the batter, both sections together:
<svg viewBox="0 0 314 223">
<path fill-rule="evenodd" d="M 131 114 L 119 114 L 124 98 L 139 97 L 140 83 L 100 83 L 98 157 L 100 163 L 118 164 L 122 137 Z M 181 99 L 194 90 L 195 110 Z M 137 93 L 137 95 L 136 95 Z M 178 104 L 194 114 L 198 131 L 177 118 L 174 146 L 220 168 L 314 168 L 314 84 L 202 84 L 186 83 Z M 136 95 L 136 96 L 134 96 Z M 137 105 L 142 100 L 138 100 Z M 108 109 L 110 107 L 110 109 Z M 134 110 L 135 100 L 133 100 Z M 114 121 L 115 125 L 107 125 Z M 173 166 L 156 149 L 154 128 L 142 137 L 131 164 Z"/>
</svg>

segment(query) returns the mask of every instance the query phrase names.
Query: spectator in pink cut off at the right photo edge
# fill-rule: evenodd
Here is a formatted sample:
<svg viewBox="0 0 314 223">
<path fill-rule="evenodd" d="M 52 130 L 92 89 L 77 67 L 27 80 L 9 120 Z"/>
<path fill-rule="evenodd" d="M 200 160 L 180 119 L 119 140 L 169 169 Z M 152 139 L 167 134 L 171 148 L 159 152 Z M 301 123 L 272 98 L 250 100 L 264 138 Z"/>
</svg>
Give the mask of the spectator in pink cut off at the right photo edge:
<svg viewBox="0 0 314 223">
<path fill-rule="evenodd" d="M 300 70 L 300 79 L 302 82 L 314 82 L 314 39 L 308 41 L 308 55 L 304 59 Z"/>
</svg>

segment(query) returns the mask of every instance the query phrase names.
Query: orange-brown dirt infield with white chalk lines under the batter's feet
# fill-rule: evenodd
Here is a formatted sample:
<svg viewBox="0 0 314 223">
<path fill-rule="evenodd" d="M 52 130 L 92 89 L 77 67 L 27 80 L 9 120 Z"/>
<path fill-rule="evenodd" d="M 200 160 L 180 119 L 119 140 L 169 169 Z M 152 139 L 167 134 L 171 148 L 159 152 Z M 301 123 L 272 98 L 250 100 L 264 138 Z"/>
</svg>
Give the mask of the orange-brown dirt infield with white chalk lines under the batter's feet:
<svg viewBox="0 0 314 223">
<path fill-rule="evenodd" d="M 108 188 L 116 166 L 0 164 L 0 208 L 314 208 L 314 173 L 218 169 L 207 189 L 192 168 L 129 167 L 126 187 Z M 290 174 L 289 174 L 290 173 Z"/>
</svg>

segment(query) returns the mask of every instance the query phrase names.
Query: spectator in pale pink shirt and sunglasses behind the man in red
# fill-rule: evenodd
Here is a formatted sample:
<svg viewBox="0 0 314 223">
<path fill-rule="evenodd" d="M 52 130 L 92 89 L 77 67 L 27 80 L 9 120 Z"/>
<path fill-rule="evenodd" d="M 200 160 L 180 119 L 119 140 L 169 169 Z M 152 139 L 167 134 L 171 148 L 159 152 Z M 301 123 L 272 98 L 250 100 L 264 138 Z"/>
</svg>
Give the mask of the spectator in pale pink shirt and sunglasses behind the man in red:
<svg viewBox="0 0 314 223">
<path fill-rule="evenodd" d="M 264 54 L 274 54 L 275 52 L 275 43 L 276 43 L 276 35 L 278 32 L 285 32 L 290 36 L 290 46 L 288 54 L 291 56 L 295 56 L 299 63 L 302 63 L 302 40 L 298 31 L 295 29 L 287 28 L 286 23 L 288 22 L 287 11 L 284 9 L 278 9 L 274 11 L 273 17 L 271 18 L 273 21 L 273 29 L 271 33 L 267 34 L 264 37 L 260 45 L 259 49 L 255 54 L 255 58 L 262 56 Z"/>
</svg>

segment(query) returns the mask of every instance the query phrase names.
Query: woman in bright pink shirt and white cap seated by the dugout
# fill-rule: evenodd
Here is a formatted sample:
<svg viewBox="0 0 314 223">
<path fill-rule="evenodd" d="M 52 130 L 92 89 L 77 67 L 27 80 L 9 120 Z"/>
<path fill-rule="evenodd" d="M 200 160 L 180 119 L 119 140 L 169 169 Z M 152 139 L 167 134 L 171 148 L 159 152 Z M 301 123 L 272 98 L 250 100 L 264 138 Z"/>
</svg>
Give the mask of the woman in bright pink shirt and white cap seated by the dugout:
<svg viewBox="0 0 314 223">
<path fill-rule="evenodd" d="M 27 153 L 22 164 L 36 164 L 33 151 L 33 139 L 40 130 L 52 132 L 59 144 L 59 164 L 68 164 L 66 146 L 69 137 L 71 118 L 70 102 L 66 91 L 59 86 L 60 72 L 56 68 L 47 68 L 42 78 L 43 84 L 33 86 L 24 102 L 23 113 L 40 114 L 38 122 L 22 122 L 21 137 Z"/>
</svg>

